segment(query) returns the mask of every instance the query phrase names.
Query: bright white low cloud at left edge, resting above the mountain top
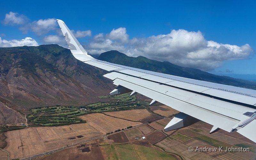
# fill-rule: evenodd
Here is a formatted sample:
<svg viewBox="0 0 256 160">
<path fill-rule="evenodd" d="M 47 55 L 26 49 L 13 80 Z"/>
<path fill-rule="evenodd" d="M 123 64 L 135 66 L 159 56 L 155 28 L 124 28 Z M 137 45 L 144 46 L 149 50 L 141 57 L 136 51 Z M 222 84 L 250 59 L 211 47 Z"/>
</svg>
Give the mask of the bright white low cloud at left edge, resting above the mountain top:
<svg viewBox="0 0 256 160">
<path fill-rule="evenodd" d="M 2 38 L 0 37 L 0 47 L 17 47 L 17 46 L 38 46 L 38 43 L 36 42 L 35 39 L 30 38 L 30 37 L 26 37 L 24 39 L 21 40 L 17 40 L 17 39 L 13 39 L 10 41 L 7 40 L 2 40 Z"/>
</svg>

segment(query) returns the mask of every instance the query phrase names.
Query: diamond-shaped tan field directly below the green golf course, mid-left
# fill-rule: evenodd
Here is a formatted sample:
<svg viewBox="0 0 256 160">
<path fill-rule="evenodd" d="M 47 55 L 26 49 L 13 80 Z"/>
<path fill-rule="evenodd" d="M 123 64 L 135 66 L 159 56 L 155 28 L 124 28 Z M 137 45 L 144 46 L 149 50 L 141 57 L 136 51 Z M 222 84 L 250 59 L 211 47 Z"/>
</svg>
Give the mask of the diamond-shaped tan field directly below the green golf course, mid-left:
<svg viewBox="0 0 256 160">
<path fill-rule="evenodd" d="M 123 129 L 128 126 L 136 126 L 136 125 L 142 124 L 140 122 L 132 122 L 124 119 L 106 116 L 102 113 L 93 113 L 93 114 L 78 116 L 78 118 L 81 118 L 87 121 L 88 124 L 96 128 L 102 134 L 106 134 L 108 132 L 114 132 L 117 129 Z"/>
</svg>

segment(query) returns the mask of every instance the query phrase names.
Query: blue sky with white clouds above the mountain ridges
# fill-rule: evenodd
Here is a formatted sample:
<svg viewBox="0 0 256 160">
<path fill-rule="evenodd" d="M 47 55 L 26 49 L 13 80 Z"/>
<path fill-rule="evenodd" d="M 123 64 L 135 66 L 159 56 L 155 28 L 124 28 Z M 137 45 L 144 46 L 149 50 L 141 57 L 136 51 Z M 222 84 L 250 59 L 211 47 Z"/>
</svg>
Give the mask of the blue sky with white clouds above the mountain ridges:
<svg viewBox="0 0 256 160">
<path fill-rule="evenodd" d="M 33 39 L 29 40 L 31 44 L 65 46 L 57 26 L 49 20 L 61 19 L 91 54 L 118 50 L 129 56 L 143 55 L 214 74 L 256 74 L 255 4 L 254 1 L 6 1 L 1 2 L 0 37 L 2 47 L 21 45 L 25 37 Z M 10 12 L 23 21 L 8 21 L 6 14 L 11 15 Z M 43 28 L 38 25 L 39 20 L 49 25 Z M 40 29 L 43 33 L 39 33 Z"/>
</svg>

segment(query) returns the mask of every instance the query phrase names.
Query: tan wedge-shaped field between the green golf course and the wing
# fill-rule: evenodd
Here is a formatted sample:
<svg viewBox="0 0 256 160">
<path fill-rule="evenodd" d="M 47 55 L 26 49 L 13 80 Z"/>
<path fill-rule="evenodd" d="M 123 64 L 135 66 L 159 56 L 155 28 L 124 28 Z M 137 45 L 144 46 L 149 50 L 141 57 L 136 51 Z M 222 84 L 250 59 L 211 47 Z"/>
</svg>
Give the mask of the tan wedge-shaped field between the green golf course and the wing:
<svg viewBox="0 0 256 160">
<path fill-rule="evenodd" d="M 127 119 L 131 121 L 140 121 L 141 119 L 147 118 L 152 114 L 147 109 L 132 109 L 118 112 L 104 112 L 106 115 L 114 116 L 117 118 Z"/>
</svg>

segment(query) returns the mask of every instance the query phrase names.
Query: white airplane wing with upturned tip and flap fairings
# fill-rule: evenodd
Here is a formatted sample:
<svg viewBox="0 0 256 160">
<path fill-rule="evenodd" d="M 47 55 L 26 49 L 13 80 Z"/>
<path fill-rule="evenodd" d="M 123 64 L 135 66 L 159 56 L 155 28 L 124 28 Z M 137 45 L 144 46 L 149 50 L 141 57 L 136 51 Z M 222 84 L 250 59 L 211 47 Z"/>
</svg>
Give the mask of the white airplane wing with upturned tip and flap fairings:
<svg viewBox="0 0 256 160">
<path fill-rule="evenodd" d="M 110 92 L 140 93 L 180 111 L 165 131 L 202 120 L 212 124 L 210 133 L 237 131 L 256 142 L 256 90 L 204 82 L 148 70 L 122 66 L 92 58 L 62 20 L 57 20 L 73 56 L 84 63 L 110 71 L 104 75 L 117 86 Z"/>
</svg>

